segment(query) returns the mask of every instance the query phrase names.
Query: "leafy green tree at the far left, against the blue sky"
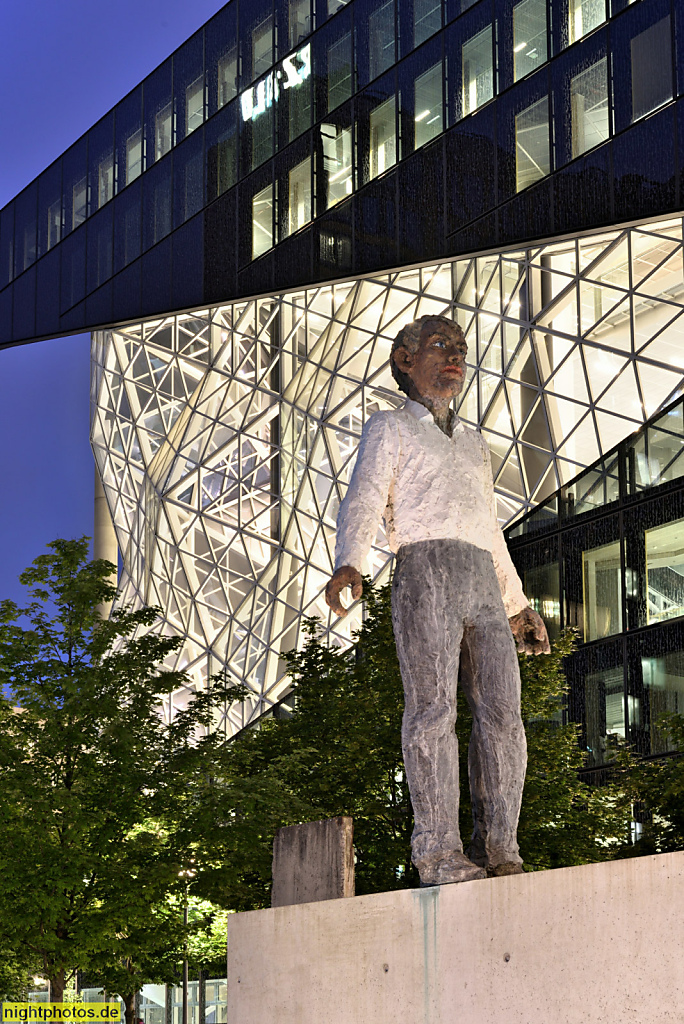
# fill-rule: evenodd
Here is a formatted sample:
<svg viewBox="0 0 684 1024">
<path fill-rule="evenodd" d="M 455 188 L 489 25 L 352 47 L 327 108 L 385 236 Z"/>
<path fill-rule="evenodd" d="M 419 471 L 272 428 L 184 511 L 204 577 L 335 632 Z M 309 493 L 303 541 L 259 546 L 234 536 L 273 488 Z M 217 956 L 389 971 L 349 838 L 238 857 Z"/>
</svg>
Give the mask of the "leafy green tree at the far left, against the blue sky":
<svg viewBox="0 0 684 1024">
<path fill-rule="evenodd" d="M 0 939 L 40 965 L 54 1001 L 77 968 L 98 973 L 130 1024 L 131 992 L 179 959 L 182 816 L 222 743 L 214 706 L 238 691 L 165 722 L 186 680 L 160 666 L 181 639 L 155 632 L 155 609 L 100 618 L 114 566 L 87 561 L 87 538 L 49 549 L 20 577 L 27 607 L 0 604 Z"/>
</svg>

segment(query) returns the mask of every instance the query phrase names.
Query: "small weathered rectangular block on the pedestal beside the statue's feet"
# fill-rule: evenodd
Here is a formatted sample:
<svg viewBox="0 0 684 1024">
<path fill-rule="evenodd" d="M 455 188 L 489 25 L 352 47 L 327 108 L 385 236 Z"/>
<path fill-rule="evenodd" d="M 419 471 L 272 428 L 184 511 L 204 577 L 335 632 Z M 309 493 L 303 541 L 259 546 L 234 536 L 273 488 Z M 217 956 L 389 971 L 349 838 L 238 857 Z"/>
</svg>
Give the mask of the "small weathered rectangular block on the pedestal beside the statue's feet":
<svg viewBox="0 0 684 1024">
<path fill-rule="evenodd" d="M 328 818 L 279 828 L 273 841 L 271 906 L 353 895 L 352 818 Z"/>
</svg>

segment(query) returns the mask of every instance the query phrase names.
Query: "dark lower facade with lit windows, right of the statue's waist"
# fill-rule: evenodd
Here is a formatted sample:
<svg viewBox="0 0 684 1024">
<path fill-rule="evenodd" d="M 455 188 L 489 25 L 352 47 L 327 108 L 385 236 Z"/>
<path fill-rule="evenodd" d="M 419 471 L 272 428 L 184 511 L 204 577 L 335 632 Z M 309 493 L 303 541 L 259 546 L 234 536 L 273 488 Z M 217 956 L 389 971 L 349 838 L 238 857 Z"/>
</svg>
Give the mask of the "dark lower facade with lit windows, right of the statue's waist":
<svg viewBox="0 0 684 1024">
<path fill-rule="evenodd" d="M 668 753 L 660 717 L 684 712 L 683 452 L 677 398 L 508 532 L 550 631 L 580 631 L 566 713 L 591 767 L 621 742 Z"/>
</svg>

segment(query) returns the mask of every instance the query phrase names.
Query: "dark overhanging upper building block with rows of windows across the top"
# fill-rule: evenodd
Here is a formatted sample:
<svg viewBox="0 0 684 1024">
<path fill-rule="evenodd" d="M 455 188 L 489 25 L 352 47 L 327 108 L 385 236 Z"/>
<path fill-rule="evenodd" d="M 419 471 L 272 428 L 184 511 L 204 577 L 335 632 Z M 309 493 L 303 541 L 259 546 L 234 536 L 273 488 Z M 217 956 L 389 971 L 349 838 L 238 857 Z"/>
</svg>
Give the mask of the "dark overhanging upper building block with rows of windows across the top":
<svg viewBox="0 0 684 1024">
<path fill-rule="evenodd" d="M 682 17 L 684 0 L 231 0 L 0 212 L 0 345 L 673 213 Z"/>
</svg>

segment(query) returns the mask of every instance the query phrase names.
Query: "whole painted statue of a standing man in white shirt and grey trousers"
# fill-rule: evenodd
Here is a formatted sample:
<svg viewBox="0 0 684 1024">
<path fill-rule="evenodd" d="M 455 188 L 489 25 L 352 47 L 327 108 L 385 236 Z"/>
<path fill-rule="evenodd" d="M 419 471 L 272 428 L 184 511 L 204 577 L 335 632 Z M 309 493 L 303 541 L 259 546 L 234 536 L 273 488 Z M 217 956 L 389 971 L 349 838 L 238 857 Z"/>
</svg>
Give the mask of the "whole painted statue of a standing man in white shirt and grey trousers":
<svg viewBox="0 0 684 1024">
<path fill-rule="evenodd" d="M 422 885 L 522 870 L 516 830 L 526 745 L 515 646 L 549 650 L 497 520 L 487 445 L 451 408 L 463 390 L 466 353 L 461 328 L 445 316 L 421 316 L 398 333 L 392 375 L 408 399 L 364 428 L 326 591 L 337 614 L 345 613 L 345 587 L 361 596 L 361 562 L 384 517 L 396 554 L 401 742 L 416 820 L 412 858 Z M 459 833 L 459 679 L 473 713 L 469 857 Z"/>
</svg>

